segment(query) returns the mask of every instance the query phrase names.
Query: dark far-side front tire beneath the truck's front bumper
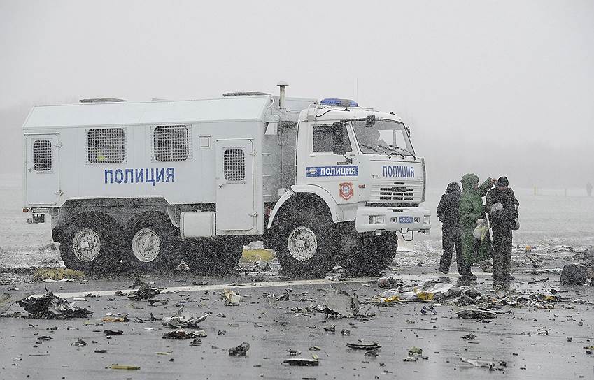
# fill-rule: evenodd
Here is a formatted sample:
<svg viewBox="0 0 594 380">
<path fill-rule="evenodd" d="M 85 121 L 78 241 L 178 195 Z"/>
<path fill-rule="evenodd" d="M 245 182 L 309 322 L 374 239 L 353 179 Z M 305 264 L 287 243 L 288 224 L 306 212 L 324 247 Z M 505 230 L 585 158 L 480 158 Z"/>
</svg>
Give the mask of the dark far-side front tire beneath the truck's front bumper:
<svg viewBox="0 0 594 380">
<path fill-rule="evenodd" d="M 359 237 L 357 247 L 341 258 L 340 265 L 351 276 L 376 276 L 392 263 L 397 249 L 396 234 L 363 235 Z"/>
</svg>

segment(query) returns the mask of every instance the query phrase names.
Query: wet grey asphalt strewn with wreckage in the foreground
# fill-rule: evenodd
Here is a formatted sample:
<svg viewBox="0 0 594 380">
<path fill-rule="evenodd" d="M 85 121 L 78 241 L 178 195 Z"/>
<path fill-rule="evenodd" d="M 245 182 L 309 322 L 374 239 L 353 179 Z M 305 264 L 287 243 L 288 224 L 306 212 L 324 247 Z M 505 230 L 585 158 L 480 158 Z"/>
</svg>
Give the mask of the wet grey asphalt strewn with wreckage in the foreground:
<svg viewBox="0 0 594 380">
<path fill-rule="evenodd" d="M 427 275 L 402 275 L 405 284 L 420 282 Z M 529 279 L 546 279 L 528 285 Z M 76 305 L 94 313 L 87 319 L 39 320 L 28 318 L 0 318 L 0 377 L 1 379 L 594 379 L 594 354 L 584 346 L 594 344 L 594 312 L 590 303 L 558 302 L 555 309 L 513 308 L 511 314 L 497 316 L 490 323 L 458 319 L 452 307 L 437 306 L 437 316 L 420 314 L 423 304 L 411 302 L 393 307 L 361 305 L 360 312 L 376 313 L 373 319 L 327 319 L 315 313 L 294 316 L 292 307 L 306 307 L 323 303 L 332 284 L 274 285 L 278 279 L 269 277 L 267 283 L 249 287 L 249 275 L 209 277 L 209 285 L 247 283 L 237 286 L 242 296 L 239 306 L 225 306 L 220 290 L 196 290 L 158 295 L 168 300 L 164 306 L 148 306 L 147 302 L 132 302 L 124 296 L 104 295 L 86 298 Z M 540 292 L 555 288 L 586 302 L 594 300 L 594 288 L 565 288 L 558 283 L 558 275 L 516 275 L 513 288 L 520 292 Z M 170 275 L 146 278 L 154 286 L 183 286 L 204 281 L 204 277 Z M 454 278 L 452 278 L 455 281 Z M 54 293 L 125 289 L 132 278 L 91 279 L 79 282 L 48 283 Z M 365 286 L 369 284 L 370 286 Z M 374 282 L 346 284 L 360 300 L 380 293 Z M 0 290 L 6 291 L 9 286 Z M 43 284 L 20 284 L 18 292 L 43 293 Z M 490 275 L 479 273 L 481 291 L 490 287 Z M 200 289 L 200 288 L 199 288 Z M 282 295 L 288 291 L 288 301 L 269 302 L 263 293 Z M 134 317 L 157 319 L 173 314 L 184 307 L 198 315 L 211 312 L 200 324 L 208 337 L 199 346 L 189 340 L 162 339 L 170 329 L 160 321 L 134 322 Z M 8 313 L 24 311 L 13 305 Z M 125 323 L 104 323 L 104 326 L 85 324 L 99 322 L 107 313 L 127 314 Z M 414 323 L 407 323 L 407 320 Z M 334 333 L 324 327 L 336 325 Z M 57 328 L 51 330 L 51 328 Z M 145 330 L 153 328 L 154 330 Z M 537 335 L 537 329 L 549 335 Z M 122 330 L 123 335 L 107 339 L 103 330 Z M 341 330 L 351 330 L 350 336 Z M 225 330 L 224 335 L 218 335 Z M 474 333 L 474 341 L 461 339 Z M 46 335 L 51 340 L 38 342 Z M 567 338 L 571 337 L 571 342 Z M 80 338 L 86 346 L 76 347 Z M 379 342 L 379 356 L 365 356 L 363 351 L 346 347 L 348 342 Z M 249 342 L 245 358 L 229 356 L 227 350 L 241 342 Z M 320 351 L 309 351 L 318 346 Z M 417 346 L 423 349 L 426 360 L 404 362 L 407 351 Z M 94 353 L 105 349 L 106 353 Z M 297 357 L 320 358 L 318 367 L 288 367 L 281 362 L 289 356 L 288 349 L 301 351 Z M 169 353 L 163 355 L 160 353 Z M 504 360 L 503 371 L 489 371 L 462 363 L 460 357 L 483 360 Z M 19 360 L 15 360 L 19 359 Z M 135 365 L 140 370 L 112 370 L 113 363 Z"/>
</svg>

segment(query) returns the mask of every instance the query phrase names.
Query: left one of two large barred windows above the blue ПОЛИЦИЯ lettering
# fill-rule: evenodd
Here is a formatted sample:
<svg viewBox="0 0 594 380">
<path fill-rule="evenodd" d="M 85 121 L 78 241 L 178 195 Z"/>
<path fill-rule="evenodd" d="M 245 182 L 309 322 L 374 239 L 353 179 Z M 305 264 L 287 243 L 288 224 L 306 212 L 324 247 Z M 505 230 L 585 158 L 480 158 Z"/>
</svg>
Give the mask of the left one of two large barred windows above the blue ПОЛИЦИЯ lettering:
<svg viewBox="0 0 594 380">
<path fill-rule="evenodd" d="M 126 156 L 122 128 L 94 128 L 87 131 L 89 163 L 120 163 Z"/>
</svg>

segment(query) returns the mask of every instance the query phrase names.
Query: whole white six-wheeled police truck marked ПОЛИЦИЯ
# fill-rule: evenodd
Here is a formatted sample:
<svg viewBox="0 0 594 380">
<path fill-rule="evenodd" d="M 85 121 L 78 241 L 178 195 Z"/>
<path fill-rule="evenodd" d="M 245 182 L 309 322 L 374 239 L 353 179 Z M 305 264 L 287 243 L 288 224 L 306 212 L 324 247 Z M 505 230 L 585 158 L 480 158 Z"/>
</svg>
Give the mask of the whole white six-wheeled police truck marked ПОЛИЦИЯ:
<svg viewBox="0 0 594 380">
<path fill-rule="evenodd" d="M 69 268 L 234 268 L 262 240 L 283 272 L 386 268 L 397 233 L 429 233 L 425 162 L 393 112 L 244 92 L 36 106 L 24 122 L 24 211 Z"/>
</svg>

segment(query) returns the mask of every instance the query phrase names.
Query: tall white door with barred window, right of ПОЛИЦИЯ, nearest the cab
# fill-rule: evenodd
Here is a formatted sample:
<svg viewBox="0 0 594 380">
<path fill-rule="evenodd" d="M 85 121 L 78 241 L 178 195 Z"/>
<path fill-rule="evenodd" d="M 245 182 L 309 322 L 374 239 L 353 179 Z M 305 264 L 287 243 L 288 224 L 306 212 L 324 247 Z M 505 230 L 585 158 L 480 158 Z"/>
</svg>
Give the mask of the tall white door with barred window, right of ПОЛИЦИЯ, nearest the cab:
<svg viewBox="0 0 594 380">
<path fill-rule="evenodd" d="M 254 151 L 247 139 L 216 142 L 216 228 L 249 231 L 255 226 Z"/>
</svg>

